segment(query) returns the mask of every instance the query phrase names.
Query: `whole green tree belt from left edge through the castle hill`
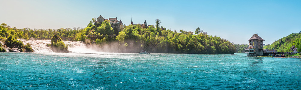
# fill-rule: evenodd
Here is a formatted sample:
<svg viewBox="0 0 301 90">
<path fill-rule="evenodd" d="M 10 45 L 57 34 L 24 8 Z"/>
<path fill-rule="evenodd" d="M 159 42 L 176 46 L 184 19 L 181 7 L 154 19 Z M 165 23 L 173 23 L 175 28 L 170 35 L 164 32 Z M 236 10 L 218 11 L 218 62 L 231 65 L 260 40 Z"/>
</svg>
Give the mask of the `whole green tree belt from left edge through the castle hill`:
<svg viewBox="0 0 301 90">
<path fill-rule="evenodd" d="M 74 37 L 73 40 L 83 41 L 87 44 L 96 44 L 98 48 L 114 43 L 118 52 L 137 52 L 141 50 L 153 53 L 193 53 L 193 54 L 230 54 L 235 53 L 233 43 L 217 36 L 210 36 L 199 27 L 195 32 L 171 29 L 160 26 L 161 21 L 155 20 L 156 25 L 149 28 L 137 25 L 124 25 L 119 33 L 113 30 L 110 23 L 93 23 L 90 21 L 85 28 L 67 29 L 17 29 L 5 23 L 1 24 L 0 35 L 2 41 L 9 36 L 14 40 L 15 46 L 21 43 L 18 39 L 51 38 L 55 34 L 60 37 Z M 116 35 L 117 34 L 117 35 Z M 111 36 L 108 36 L 111 35 Z M 113 36 L 112 36 L 113 35 Z M 111 47 L 112 49 L 113 47 Z"/>
</svg>

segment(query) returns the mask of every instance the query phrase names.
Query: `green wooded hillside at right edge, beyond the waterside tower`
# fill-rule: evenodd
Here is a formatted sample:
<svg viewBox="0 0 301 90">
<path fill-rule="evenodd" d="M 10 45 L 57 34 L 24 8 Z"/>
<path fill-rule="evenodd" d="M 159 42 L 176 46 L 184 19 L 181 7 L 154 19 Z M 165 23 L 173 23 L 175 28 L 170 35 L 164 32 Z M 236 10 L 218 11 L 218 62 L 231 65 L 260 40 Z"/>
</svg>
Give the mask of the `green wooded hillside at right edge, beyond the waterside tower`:
<svg viewBox="0 0 301 90">
<path fill-rule="evenodd" d="M 277 51 L 282 52 L 291 52 L 290 48 L 294 45 L 294 41 L 301 37 L 301 32 L 299 33 L 292 33 L 286 37 L 283 37 L 271 45 L 263 46 L 263 49 L 273 49 L 275 48 Z M 296 46 L 297 47 L 297 46 Z"/>
</svg>

